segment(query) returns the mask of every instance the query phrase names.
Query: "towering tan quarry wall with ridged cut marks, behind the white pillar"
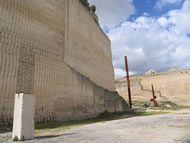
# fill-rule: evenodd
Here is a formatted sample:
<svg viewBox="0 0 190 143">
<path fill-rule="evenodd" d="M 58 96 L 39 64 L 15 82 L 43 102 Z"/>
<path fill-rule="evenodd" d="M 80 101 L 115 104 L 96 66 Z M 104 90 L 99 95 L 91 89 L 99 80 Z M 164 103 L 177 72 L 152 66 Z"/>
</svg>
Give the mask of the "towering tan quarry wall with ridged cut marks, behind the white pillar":
<svg viewBox="0 0 190 143">
<path fill-rule="evenodd" d="M 15 93 L 36 97 L 35 121 L 123 111 L 107 37 L 78 0 L 0 0 L 0 121 Z"/>
</svg>

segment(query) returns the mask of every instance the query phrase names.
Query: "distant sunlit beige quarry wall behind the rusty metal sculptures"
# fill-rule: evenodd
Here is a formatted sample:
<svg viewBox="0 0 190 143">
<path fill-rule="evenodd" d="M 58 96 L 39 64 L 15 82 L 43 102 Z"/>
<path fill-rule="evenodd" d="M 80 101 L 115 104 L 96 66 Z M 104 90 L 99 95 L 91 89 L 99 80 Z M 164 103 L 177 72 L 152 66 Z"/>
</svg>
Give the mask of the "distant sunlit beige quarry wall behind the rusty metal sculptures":
<svg viewBox="0 0 190 143">
<path fill-rule="evenodd" d="M 130 81 L 134 101 L 150 101 L 153 84 L 157 101 L 172 101 L 181 106 L 190 106 L 190 70 L 137 75 L 132 76 Z M 117 80 L 116 90 L 128 100 L 125 78 Z"/>
</svg>

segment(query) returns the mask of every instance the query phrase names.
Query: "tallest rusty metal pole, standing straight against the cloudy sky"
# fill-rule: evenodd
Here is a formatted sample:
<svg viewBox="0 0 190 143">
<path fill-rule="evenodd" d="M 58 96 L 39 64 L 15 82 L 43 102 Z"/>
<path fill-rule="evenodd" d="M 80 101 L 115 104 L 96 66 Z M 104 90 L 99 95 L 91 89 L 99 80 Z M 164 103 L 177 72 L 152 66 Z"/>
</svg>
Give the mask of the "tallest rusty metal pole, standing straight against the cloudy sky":
<svg viewBox="0 0 190 143">
<path fill-rule="evenodd" d="M 125 68 L 126 68 L 126 78 L 127 78 L 127 85 L 128 85 L 129 107 L 132 108 L 131 88 L 130 88 L 129 68 L 128 68 L 127 56 L 125 56 Z"/>
</svg>

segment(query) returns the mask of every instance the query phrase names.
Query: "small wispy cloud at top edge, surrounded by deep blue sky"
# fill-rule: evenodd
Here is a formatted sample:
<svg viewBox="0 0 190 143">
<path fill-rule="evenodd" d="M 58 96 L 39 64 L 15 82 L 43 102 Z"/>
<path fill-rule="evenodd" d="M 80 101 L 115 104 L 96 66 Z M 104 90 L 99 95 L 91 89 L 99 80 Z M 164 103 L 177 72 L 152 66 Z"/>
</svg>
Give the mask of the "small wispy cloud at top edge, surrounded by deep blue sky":
<svg viewBox="0 0 190 143">
<path fill-rule="evenodd" d="M 158 0 L 156 2 L 155 8 L 162 9 L 163 7 L 167 6 L 168 4 L 180 4 L 182 0 Z"/>
</svg>

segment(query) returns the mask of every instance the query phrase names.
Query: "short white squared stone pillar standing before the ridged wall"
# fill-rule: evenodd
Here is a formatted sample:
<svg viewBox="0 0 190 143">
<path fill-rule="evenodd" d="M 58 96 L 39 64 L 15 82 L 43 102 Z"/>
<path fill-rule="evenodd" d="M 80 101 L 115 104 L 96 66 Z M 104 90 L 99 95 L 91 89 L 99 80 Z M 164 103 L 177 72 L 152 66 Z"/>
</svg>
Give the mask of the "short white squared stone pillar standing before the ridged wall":
<svg viewBox="0 0 190 143">
<path fill-rule="evenodd" d="M 15 137 L 19 140 L 34 138 L 34 107 L 34 95 L 23 93 L 15 95 L 13 139 Z"/>
</svg>

